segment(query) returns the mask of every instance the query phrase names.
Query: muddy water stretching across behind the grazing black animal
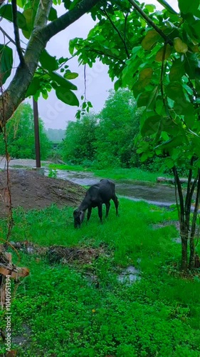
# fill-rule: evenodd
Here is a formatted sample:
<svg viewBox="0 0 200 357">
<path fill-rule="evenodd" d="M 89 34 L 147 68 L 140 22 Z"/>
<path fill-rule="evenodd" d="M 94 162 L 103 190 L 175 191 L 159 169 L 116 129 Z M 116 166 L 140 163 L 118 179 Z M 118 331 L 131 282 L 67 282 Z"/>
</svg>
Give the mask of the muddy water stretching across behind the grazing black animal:
<svg viewBox="0 0 200 357">
<path fill-rule="evenodd" d="M 49 164 L 43 161 L 43 164 Z M 10 161 L 12 169 L 31 169 L 35 167 L 36 161 L 15 159 Z M 5 168 L 4 159 L 0 158 L 0 169 Z M 49 170 L 43 169 L 44 174 L 48 176 Z M 56 170 L 56 177 L 63 178 L 78 183 L 82 186 L 90 186 L 96 183 L 100 178 L 95 177 L 92 173 Z M 162 183 L 152 183 L 144 181 L 123 180 L 116 183 L 117 195 L 130 198 L 134 201 L 144 200 L 157 206 L 169 207 L 175 202 L 174 186 Z"/>
</svg>

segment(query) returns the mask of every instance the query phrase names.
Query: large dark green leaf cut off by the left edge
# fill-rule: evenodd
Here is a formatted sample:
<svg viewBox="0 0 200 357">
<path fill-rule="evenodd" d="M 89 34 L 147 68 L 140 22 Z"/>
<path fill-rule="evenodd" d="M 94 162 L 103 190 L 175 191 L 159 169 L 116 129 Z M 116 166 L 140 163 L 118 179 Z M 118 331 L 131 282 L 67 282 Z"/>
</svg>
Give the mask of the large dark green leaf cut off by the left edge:
<svg viewBox="0 0 200 357">
<path fill-rule="evenodd" d="M 6 79 L 11 75 L 13 66 L 13 50 L 6 45 L 0 44 L 0 77 L 1 84 L 6 82 Z"/>
</svg>

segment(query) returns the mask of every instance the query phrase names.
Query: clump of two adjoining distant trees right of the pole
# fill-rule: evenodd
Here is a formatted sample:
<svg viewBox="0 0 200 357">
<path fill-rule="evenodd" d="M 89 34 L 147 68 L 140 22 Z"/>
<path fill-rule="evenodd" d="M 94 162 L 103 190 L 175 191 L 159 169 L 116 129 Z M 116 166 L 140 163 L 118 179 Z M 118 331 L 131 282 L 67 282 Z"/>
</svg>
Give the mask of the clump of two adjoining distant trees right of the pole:
<svg viewBox="0 0 200 357">
<path fill-rule="evenodd" d="M 100 114 L 91 113 L 68 123 L 60 145 L 62 159 L 96 169 L 117 166 L 159 169 L 159 159 L 149 159 L 143 164 L 137 153 L 141 116 L 142 109 L 137 109 L 130 91 L 111 90 Z"/>
</svg>

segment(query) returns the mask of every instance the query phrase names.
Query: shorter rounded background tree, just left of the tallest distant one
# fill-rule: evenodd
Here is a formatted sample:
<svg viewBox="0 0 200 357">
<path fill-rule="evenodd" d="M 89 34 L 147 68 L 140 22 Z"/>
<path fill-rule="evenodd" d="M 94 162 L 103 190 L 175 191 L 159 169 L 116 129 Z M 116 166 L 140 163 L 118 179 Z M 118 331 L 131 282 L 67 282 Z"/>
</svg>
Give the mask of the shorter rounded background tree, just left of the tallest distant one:
<svg viewBox="0 0 200 357">
<path fill-rule="evenodd" d="M 63 159 L 73 164 L 88 164 L 95 158 L 95 114 L 68 123 L 62 143 Z"/>
</svg>

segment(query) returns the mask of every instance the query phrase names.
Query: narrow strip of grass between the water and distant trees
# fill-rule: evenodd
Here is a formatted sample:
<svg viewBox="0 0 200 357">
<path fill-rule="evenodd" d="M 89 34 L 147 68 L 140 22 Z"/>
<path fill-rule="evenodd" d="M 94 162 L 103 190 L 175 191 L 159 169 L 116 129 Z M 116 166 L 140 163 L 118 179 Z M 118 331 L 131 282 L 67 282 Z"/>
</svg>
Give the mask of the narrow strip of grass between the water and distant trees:
<svg viewBox="0 0 200 357">
<path fill-rule="evenodd" d="M 60 165 L 60 164 L 49 164 L 49 169 L 59 169 L 59 170 L 69 170 L 69 171 L 87 171 L 93 172 L 95 176 L 102 178 L 111 178 L 115 181 L 117 180 L 139 180 L 139 181 L 153 181 L 157 180 L 157 176 L 162 175 L 162 173 L 152 173 L 149 171 L 143 171 L 141 169 L 105 169 L 105 170 L 95 170 L 91 168 L 85 169 L 83 166 L 78 165 Z"/>
</svg>

